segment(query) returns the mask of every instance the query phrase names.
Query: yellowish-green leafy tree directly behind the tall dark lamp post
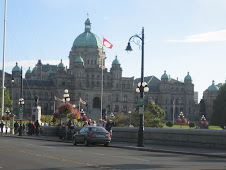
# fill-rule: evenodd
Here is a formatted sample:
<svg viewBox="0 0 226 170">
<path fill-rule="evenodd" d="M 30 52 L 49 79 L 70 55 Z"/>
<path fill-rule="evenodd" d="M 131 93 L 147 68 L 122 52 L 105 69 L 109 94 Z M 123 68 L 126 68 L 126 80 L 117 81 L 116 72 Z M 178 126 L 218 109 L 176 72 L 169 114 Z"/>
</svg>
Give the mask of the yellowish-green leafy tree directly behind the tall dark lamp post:
<svg viewBox="0 0 226 170">
<path fill-rule="evenodd" d="M 162 120 L 165 118 L 165 111 L 152 101 L 144 108 L 144 126 L 162 127 Z M 139 108 L 132 114 L 132 125 L 139 126 Z"/>
</svg>

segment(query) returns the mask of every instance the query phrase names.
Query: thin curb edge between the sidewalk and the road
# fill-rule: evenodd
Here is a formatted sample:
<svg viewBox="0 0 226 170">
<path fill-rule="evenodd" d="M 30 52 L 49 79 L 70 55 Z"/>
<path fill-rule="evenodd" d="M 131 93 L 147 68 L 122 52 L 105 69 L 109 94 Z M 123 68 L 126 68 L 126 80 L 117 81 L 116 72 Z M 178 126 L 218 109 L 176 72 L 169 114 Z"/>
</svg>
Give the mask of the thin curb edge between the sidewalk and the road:
<svg viewBox="0 0 226 170">
<path fill-rule="evenodd" d="M 45 139 L 45 138 L 29 137 L 29 136 L 5 135 L 4 137 L 43 140 L 43 141 L 52 141 L 52 142 L 63 142 L 63 143 L 72 143 L 71 141 L 65 141 L 65 140 L 61 140 L 61 139 L 55 140 L 55 139 L 47 139 L 47 138 Z M 194 152 L 174 151 L 174 150 L 166 150 L 166 149 L 153 149 L 153 148 L 136 147 L 136 146 L 120 146 L 120 145 L 115 145 L 115 144 L 111 144 L 111 145 L 109 145 L 109 147 L 121 148 L 121 149 L 129 149 L 129 150 L 148 151 L 148 152 L 163 152 L 163 153 L 185 154 L 185 155 L 195 155 L 195 156 L 205 156 L 205 157 L 215 157 L 215 158 L 226 158 L 226 155 L 194 153 Z"/>
</svg>

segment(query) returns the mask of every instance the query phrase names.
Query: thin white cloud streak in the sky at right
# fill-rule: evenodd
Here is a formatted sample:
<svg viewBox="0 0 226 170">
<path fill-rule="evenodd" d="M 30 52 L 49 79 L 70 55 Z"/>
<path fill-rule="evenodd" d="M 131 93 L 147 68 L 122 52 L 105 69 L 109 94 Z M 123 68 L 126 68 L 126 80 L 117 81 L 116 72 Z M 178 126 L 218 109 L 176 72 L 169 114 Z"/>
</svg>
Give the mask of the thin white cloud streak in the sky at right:
<svg viewBox="0 0 226 170">
<path fill-rule="evenodd" d="M 226 30 L 206 32 L 185 36 L 183 40 L 167 40 L 168 42 L 217 42 L 226 41 Z"/>
</svg>

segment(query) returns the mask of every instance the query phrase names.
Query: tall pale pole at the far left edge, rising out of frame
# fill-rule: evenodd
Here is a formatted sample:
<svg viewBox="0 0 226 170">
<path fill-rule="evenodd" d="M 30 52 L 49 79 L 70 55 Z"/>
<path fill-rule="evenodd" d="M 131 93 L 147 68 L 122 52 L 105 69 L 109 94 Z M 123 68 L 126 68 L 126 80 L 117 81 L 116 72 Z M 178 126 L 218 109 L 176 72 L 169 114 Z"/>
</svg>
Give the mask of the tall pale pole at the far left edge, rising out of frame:
<svg viewBox="0 0 226 170">
<path fill-rule="evenodd" d="M 2 120 L 2 116 L 3 116 L 3 112 L 4 112 L 6 9 L 7 9 L 7 0 L 5 0 L 5 17 L 4 17 L 3 61 L 2 61 L 2 109 L 1 109 L 1 120 Z"/>
</svg>

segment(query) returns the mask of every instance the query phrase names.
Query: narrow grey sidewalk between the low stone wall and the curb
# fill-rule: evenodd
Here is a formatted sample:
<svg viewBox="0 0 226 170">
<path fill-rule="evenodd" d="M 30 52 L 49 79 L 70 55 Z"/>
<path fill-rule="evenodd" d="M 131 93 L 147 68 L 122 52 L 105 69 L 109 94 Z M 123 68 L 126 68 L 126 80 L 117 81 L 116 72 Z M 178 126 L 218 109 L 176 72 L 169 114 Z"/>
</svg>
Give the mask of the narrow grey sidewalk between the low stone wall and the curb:
<svg viewBox="0 0 226 170">
<path fill-rule="evenodd" d="M 55 141 L 55 142 L 66 142 L 71 143 L 71 141 L 65 141 L 59 139 L 58 136 L 18 136 L 11 134 L 3 134 L 4 137 L 13 138 L 23 138 L 23 139 L 33 139 L 33 140 L 45 140 L 45 141 Z M 165 153 L 176 153 L 176 154 L 188 154 L 188 155 L 198 155 L 198 156 L 208 156 L 208 157 L 218 157 L 226 158 L 226 150 L 223 149 L 210 149 L 210 148 L 197 148 L 197 147 L 183 147 L 183 146 L 165 146 L 165 145 L 145 145 L 145 147 L 137 147 L 136 143 L 124 143 L 124 142 L 112 142 L 109 144 L 110 147 L 140 150 L 140 151 L 150 151 L 150 152 L 165 152 Z"/>
</svg>

